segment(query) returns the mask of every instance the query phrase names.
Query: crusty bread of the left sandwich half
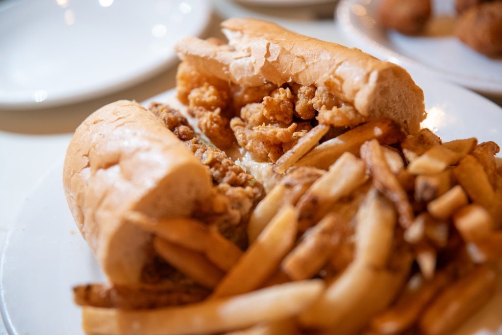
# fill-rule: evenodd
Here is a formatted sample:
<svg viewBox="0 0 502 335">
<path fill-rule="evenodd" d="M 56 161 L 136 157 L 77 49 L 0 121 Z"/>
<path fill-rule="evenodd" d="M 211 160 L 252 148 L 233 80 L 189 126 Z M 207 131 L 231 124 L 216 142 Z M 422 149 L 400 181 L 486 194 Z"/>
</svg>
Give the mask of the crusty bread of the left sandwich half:
<svg viewBox="0 0 502 335">
<path fill-rule="evenodd" d="M 108 280 L 135 285 L 151 236 L 123 221 L 127 211 L 154 218 L 190 216 L 209 196 L 205 166 L 153 114 L 121 100 L 76 129 L 63 170 L 68 205 Z"/>
</svg>

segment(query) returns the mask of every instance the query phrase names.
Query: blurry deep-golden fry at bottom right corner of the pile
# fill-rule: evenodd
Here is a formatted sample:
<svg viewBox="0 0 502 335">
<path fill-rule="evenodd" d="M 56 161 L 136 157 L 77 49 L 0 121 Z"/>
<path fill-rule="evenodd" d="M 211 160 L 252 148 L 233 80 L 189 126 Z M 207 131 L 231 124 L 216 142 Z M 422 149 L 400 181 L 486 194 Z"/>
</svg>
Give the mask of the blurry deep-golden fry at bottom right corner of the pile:
<svg viewBox="0 0 502 335">
<path fill-rule="evenodd" d="M 427 335 L 452 333 L 489 300 L 496 288 L 496 277 L 495 270 L 481 265 L 450 285 L 422 315 L 420 330 Z"/>
</svg>

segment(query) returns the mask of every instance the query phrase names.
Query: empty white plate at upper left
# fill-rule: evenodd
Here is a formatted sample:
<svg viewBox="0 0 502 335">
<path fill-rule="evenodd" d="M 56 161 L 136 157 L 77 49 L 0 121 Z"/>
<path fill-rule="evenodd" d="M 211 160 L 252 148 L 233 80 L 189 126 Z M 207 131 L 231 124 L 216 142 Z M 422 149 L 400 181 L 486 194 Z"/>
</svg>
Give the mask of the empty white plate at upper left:
<svg viewBox="0 0 502 335">
<path fill-rule="evenodd" d="M 0 107 L 75 103 L 145 80 L 210 16 L 206 0 L 3 0 Z"/>
</svg>

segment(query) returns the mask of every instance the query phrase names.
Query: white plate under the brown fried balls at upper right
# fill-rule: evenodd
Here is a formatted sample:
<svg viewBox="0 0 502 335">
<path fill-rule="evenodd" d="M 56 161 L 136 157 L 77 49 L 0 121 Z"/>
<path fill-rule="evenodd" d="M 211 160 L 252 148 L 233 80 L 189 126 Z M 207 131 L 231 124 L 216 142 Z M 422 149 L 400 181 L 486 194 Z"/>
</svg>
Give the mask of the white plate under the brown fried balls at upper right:
<svg viewBox="0 0 502 335">
<path fill-rule="evenodd" d="M 382 0 L 342 0 L 339 26 L 356 46 L 408 69 L 428 71 L 444 80 L 490 95 L 502 95 L 502 58 L 490 59 L 451 35 L 453 0 L 434 0 L 434 18 L 424 36 L 386 31 L 376 20 Z"/>
</svg>

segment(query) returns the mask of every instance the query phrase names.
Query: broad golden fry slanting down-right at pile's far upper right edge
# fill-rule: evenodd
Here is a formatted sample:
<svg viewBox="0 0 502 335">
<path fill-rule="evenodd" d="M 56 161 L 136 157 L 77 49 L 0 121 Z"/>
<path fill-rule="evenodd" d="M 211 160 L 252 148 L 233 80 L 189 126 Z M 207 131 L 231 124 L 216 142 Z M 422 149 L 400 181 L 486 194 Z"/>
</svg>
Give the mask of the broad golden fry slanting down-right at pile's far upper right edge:
<svg viewBox="0 0 502 335">
<path fill-rule="evenodd" d="M 455 166 L 453 173 L 469 198 L 484 208 L 490 208 L 495 199 L 495 192 L 491 186 L 483 166 L 471 155 L 467 155 Z"/>
</svg>

